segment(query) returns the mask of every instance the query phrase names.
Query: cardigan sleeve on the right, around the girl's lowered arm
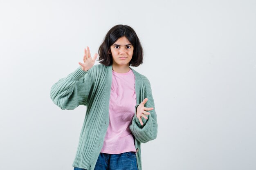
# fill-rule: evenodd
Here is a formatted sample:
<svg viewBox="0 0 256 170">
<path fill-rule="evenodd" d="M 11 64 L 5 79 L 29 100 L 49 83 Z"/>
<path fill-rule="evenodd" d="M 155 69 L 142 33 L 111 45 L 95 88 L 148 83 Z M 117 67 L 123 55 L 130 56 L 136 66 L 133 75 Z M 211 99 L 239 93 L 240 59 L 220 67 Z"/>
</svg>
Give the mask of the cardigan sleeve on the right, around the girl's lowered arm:
<svg viewBox="0 0 256 170">
<path fill-rule="evenodd" d="M 151 141 L 153 139 L 156 139 L 157 137 L 157 115 L 155 112 L 155 104 L 154 99 L 150 87 L 150 82 L 148 79 L 144 81 L 146 86 L 146 94 L 144 98 L 148 98 L 148 101 L 146 104 L 144 104 L 144 107 L 147 108 L 154 108 L 153 110 L 149 110 L 149 115 L 146 115 L 148 119 L 145 119 L 144 117 L 141 117 L 143 125 L 140 124 L 139 119 L 136 116 L 137 107 L 139 104 L 135 106 L 135 116 L 132 119 L 132 124 L 130 125 L 130 130 L 132 134 L 135 136 L 135 138 L 140 141 L 141 143 L 146 143 L 148 141 Z"/>
</svg>

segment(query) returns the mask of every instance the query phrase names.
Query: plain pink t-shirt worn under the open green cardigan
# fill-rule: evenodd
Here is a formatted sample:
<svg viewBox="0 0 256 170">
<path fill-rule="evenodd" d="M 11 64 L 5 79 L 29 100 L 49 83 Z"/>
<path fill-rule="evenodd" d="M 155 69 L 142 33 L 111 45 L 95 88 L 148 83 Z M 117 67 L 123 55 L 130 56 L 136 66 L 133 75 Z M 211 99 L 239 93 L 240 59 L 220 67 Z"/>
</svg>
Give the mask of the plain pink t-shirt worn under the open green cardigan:
<svg viewBox="0 0 256 170">
<path fill-rule="evenodd" d="M 135 76 L 112 70 L 112 85 L 109 105 L 109 126 L 104 139 L 102 153 L 119 154 L 136 152 L 134 136 L 129 126 L 135 115 Z"/>
</svg>

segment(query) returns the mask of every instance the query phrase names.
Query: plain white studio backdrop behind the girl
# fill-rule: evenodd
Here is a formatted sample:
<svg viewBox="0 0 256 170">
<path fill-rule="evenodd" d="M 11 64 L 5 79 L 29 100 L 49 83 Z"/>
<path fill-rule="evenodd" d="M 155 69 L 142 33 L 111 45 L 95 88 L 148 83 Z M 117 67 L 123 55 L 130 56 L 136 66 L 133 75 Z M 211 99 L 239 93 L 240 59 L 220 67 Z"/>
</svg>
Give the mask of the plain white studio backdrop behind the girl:
<svg viewBox="0 0 256 170">
<path fill-rule="evenodd" d="M 116 24 L 139 36 L 155 100 L 143 170 L 255 170 L 255 0 L 0 0 L 0 169 L 73 170 L 86 106 L 50 88 Z"/>
</svg>

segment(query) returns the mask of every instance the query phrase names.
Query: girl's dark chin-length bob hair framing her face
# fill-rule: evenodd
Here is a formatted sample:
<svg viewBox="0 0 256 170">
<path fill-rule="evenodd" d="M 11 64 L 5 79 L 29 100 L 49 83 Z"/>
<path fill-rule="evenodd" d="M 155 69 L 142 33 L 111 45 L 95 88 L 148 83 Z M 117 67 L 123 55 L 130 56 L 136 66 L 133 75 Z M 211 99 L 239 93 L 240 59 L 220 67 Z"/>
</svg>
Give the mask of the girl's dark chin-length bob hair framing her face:
<svg viewBox="0 0 256 170">
<path fill-rule="evenodd" d="M 133 46 L 132 59 L 129 62 L 130 66 L 139 66 L 143 63 L 143 49 L 139 38 L 135 31 L 128 25 L 113 26 L 106 34 L 101 46 L 99 47 L 99 63 L 110 66 L 113 63 L 112 54 L 109 54 L 110 46 L 112 46 L 119 38 L 126 37 Z"/>
</svg>

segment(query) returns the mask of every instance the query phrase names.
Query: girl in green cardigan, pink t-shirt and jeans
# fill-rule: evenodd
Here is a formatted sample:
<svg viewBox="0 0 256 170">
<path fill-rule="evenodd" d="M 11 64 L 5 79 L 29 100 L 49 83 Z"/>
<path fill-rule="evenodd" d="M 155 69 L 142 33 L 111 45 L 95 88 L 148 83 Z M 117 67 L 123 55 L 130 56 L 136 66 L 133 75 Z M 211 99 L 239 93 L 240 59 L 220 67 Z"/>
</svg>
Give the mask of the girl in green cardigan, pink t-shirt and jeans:
<svg viewBox="0 0 256 170">
<path fill-rule="evenodd" d="M 112 27 L 94 65 L 85 49 L 83 63 L 51 88 L 61 109 L 87 106 L 74 170 L 141 170 L 141 143 L 157 137 L 157 115 L 150 82 L 130 66 L 139 66 L 143 49 L 127 25 Z"/>
</svg>

